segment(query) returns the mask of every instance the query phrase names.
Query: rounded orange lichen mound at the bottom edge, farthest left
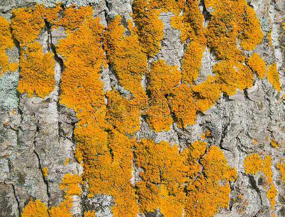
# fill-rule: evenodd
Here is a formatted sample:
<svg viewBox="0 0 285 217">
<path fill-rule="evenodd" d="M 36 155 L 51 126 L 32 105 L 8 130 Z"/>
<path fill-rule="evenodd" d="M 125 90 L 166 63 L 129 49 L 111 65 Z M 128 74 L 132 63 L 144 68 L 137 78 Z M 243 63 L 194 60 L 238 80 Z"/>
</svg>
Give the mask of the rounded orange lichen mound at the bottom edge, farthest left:
<svg viewBox="0 0 285 217">
<path fill-rule="evenodd" d="M 22 217 L 49 217 L 48 207 L 41 200 L 30 200 L 23 208 Z"/>
</svg>

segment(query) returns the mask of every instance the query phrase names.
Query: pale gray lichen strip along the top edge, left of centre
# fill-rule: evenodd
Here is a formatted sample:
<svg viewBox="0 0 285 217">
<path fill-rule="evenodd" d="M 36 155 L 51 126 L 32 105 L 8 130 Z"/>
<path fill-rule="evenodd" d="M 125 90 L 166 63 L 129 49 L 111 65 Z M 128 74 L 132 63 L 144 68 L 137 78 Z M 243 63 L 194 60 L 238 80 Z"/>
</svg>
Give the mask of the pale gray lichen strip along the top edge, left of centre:
<svg viewBox="0 0 285 217">
<path fill-rule="evenodd" d="M 77 7 L 99 4 L 101 0 L 34 0 L 34 2 L 44 4 L 45 7 L 49 8 L 54 8 L 56 4 L 61 2 L 61 5 L 68 8 L 73 4 L 75 4 Z"/>
</svg>

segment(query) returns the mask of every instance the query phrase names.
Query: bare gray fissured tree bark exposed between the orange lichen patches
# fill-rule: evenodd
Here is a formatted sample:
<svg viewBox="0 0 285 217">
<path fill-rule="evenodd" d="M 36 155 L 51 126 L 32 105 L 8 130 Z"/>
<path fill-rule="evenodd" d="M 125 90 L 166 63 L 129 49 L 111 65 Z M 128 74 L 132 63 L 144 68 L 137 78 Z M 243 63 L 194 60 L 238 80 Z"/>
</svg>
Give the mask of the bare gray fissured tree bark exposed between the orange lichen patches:
<svg viewBox="0 0 285 217">
<path fill-rule="evenodd" d="M 33 6 L 31 0 L 0 0 L 0 16 L 11 21 L 11 11 L 14 8 Z M 216 103 L 203 114 L 197 113 L 195 123 L 186 127 L 171 125 L 167 132 L 154 132 L 144 117 L 140 118 L 140 128 L 134 134 L 137 140 L 152 138 L 156 142 L 161 140 L 176 144 L 181 149 L 188 144 L 201 140 L 201 134 L 206 129 L 210 136 L 205 138 L 208 145 L 216 145 L 223 151 L 228 165 L 237 170 L 237 179 L 231 183 L 230 202 L 228 208 L 220 208 L 217 217 L 222 216 L 271 216 L 270 200 L 266 196 L 269 186 L 264 186 L 264 175 L 246 174 L 243 161 L 252 153 L 272 155 L 271 170 L 273 184 L 277 190 L 273 213 L 275 216 L 285 216 L 285 184 L 276 168 L 278 162 L 285 155 L 285 30 L 282 21 L 285 16 L 285 2 L 282 0 L 247 0 L 247 4 L 254 8 L 261 21 L 264 34 L 262 42 L 254 52 L 262 56 L 267 65 L 276 62 L 280 78 L 281 91 L 278 92 L 266 79 L 256 77 L 250 89 L 237 91 L 233 96 L 221 94 Z M 100 23 L 108 26 L 110 12 L 120 14 L 122 20 L 131 19 L 132 2 L 120 0 L 102 1 L 92 6 L 94 17 L 100 18 Z M 205 14 L 203 2 L 200 9 Z M 161 49 L 148 59 L 148 67 L 153 61 L 164 59 L 167 65 L 177 65 L 181 62 L 186 46 L 180 41 L 180 30 L 170 25 L 172 13 L 161 13 L 159 19 L 163 21 L 163 39 Z M 267 34 L 271 29 L 272 42 Z M 126 33 L 128 34 L 128 33 Z M 43 52 L 52 51 L 58 44 L 59 38 L 65 38 L 62 27 L 51 30 L 47 25 L 41 30 L 37 40 L 43 46 Z M 252 51 L 251 51 L 252 52 Z M 10 62 L 19 61 L 19 46 L 6 49 Z M 44 99 L 19 95 L 19 106 L 11 111 L 2 109 L 0 115 L 0 216 L 21 216 L 22 209 L 32 199 L 40 199 L 47 206 L 56 206 L 63 200 L 63 192 L 59 188 L 63 176 L 67 173 L 79 174 L 83 172 L 74 151 L 75 124 L 78 121 L 75 111 L 59 103 L 60 79 L 63 71 L 63 60 L 55 53 L 55 88 Z M 205 49 L 200 73 L 196 83 L 206 80 L 212 75 L 212 66 L 217 63 L 215 53 Z M 17 77 L 20 69 L 13 72 Z M 118 77 L 109 64 L 102 69 L 100 79 L 104 83 L 104 91 L 121 89 Z M 142 86 L 146 90 L 148 82 L 142 79 Z M 124 94 L 125 90 L 120 93 Z M 281 144 L 277 148 L 270 146 L 270 140 Z M 69 162 L 66 162 L 66 158 Z M 135 167 L 135 163 L 133 163 Z M 48 169 L 47 176 L 43 170 Z M 132 183 L 138 182 L 140 168 L 133 171 Z M 85 191 L 85 192 L 84 192 Z M 81 196 L 75 196 L 73 202 L 73 216 L 83 216 L 85 210 L 96 210 L 97 216 L 112 216 L 112 197 L 97 195 L 87 198 L 86 189 Z M 163 216 L 159 209 L 156 212 L 139 214 L 139 216 Z"/>
</svg>

